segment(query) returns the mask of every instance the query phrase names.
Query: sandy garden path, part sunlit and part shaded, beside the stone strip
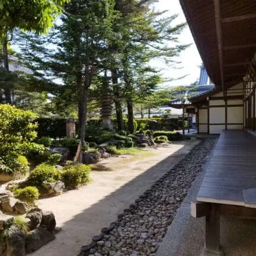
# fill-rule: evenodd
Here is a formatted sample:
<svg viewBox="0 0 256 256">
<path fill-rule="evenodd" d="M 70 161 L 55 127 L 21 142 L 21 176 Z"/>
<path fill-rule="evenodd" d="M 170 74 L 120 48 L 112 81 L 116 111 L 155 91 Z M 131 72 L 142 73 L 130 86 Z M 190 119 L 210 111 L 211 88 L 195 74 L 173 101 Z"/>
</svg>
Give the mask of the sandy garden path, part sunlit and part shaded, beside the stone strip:
<svg viewBox="0 0 256 256">
<path fill-rule="evenodd" d="M 170 144 L 167 148 L 146 149 L 145 153 L 111 158 L 94 165 L 92 181 L 79 190 L 59 197 L 41 199 L 43 210 L 55 213 L 62 231 L 55 241 L 31 255 L 72 256 L 100 229 L 116 220 L 118 213 L 180 161 L 198 140 Z"/>
</svg>

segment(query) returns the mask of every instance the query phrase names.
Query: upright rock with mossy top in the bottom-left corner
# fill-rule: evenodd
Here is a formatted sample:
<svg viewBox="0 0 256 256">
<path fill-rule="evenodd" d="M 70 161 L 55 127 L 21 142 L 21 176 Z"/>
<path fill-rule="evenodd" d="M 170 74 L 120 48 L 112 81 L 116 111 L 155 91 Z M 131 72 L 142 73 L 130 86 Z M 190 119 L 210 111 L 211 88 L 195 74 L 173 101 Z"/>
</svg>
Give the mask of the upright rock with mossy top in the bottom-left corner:
<svg viewBox="0 0 256 256">
<path fill-rule="evenodd" d="M 11 226 L 7 236 L 7 255 L 24 256 L 25 255 L 25 232 L 17 226 Z"/>
</svg>

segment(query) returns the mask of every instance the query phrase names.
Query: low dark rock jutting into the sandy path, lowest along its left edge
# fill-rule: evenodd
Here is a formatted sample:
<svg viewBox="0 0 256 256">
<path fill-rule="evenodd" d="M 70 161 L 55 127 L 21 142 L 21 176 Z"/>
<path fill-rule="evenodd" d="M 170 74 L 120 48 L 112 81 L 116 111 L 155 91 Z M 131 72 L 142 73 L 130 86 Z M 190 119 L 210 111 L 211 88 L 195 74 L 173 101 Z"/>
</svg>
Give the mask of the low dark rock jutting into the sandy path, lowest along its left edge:
<svg viewBox="0 0 256 256">
<path fill-rule="evenodd" d="M 27 253 L 36 251 L 44 244 L 55 239 L 55 235 L 51 232 L 47 231 L 46 229 L 39 227 L 34 229 L 27 235 L 27 239 L 25 241 L 25 251 Z"/>
</svg>

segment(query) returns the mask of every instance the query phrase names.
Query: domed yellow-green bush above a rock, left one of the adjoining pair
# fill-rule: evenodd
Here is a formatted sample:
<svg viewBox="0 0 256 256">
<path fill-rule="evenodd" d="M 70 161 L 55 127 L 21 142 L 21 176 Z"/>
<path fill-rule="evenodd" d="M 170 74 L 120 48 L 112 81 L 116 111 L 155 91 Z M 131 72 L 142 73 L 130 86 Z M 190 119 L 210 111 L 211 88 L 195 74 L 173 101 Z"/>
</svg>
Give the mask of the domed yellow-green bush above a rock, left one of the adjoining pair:
<svg viewBox="0 0 256 256">
<path fill-rule="evenodd" d="M 54 182 L 60 179 L 60 172 L 52 165 L 45 163 L 37 165 L 27 178 L 27 183 L 34 187 L 41 188 L 43 181 Z"/>
</svg>

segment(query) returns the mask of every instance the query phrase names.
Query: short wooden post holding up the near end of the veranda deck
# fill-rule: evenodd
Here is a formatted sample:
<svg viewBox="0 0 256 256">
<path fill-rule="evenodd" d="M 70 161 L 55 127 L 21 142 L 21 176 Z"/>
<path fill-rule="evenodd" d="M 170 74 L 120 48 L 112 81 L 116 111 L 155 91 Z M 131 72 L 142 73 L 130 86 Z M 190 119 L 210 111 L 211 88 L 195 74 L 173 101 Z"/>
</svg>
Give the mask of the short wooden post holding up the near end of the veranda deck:
<svg viewBox="0 0 256 256">
<path fill-rule="evenodd" d="M 220 207 L 212 204 L 212 212 L 206 216 L 206 251 L 220 251 Z"/>
</svg>

